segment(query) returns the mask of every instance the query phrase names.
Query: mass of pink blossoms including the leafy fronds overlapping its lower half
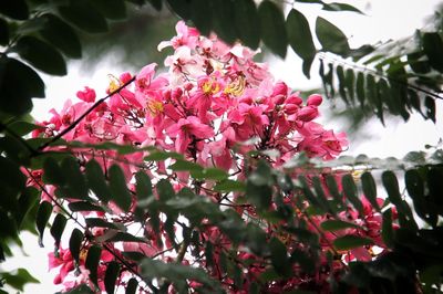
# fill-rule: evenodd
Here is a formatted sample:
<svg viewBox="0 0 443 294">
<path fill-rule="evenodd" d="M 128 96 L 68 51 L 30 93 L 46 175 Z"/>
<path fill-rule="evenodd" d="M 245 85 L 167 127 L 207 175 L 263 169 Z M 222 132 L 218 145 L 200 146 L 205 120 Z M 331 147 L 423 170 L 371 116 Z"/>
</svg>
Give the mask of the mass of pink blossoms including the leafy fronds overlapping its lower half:
<svg viewBox="0 0 443 294">
<path fill-rule="evenodd" d="M 322 97 L 275 81 L 248 48 L 176 30 L 158 46 L 173 50 L 167 72 L 112 76 L 101 99 L 86 86 L 33 132 L 40 150 L 60 155 L 25 170 L 41 191 L 41 235 L 56 213 L 54 283 L 329 293 L 350 264 L 387 254 L 381 227 L 395 228 L 396 213 L 381 213 L 373 179 L 361 197 L 351 175 L 309 164 L 348 146 L 316 122 Z"/>
</svg>

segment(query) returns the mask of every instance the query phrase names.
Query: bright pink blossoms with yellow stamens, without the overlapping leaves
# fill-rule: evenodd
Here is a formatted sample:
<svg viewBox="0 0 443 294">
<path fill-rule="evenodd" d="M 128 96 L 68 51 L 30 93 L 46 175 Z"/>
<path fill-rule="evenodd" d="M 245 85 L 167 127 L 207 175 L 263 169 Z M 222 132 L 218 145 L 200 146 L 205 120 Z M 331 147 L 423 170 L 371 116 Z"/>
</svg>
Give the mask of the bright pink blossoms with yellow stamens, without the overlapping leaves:
<svg viewBox="0 0 443 294">
<path fill-rule="evenodd" d="M 175 38 L 159 44 L 159 49 L 172 46 L 174 51 L 165 60 L 166 73 L 158 74 L 155 72 L 156 65 L 148 64 L 136 74 L 134 83 L 116 93 L 114 91 L 131 81 L 133 75 L 126 72 L 112 77 L 107 93 L 114 94 L 94 107 L 63 138 L 92 144 L 114 141 L 141 147 L 155 146 L 161 150 L 181 153 L 187 160 L 204 167 L 224 169 L 231 175 L 231 179 L 245 177 L 244 158 L 248 151 L 276 150 L 276 156 L 266 158 L 278 167 L 301 151 L 309 157 L 329 160 L 347 147 L 343 133 L 336 134 L 315 122 L 322 103 L 320 95 L 311 95 L 303 101 L 298 92 L 292 92 L 284 82 L 274 81 L 267 65 L 255 62 L 256 52 L 248 48 L 227 45 L 215 35 L 202 36 L 184 22 L 178 22 L 176 30 Z M 43 128 L 33 135 L 52 137 L 60 134 L 90 109 L 96 98 L 95 91 L 90 87 L 79 91 L 76 96 L 80 102 L 66 101 L 61 112 L 52 109 L 52 117 L 41 122 Z M 79 153 L 82 159 L 99 159 L 104 170 L 119 162 L 130 187 L 133 174 L 144 164 L 145 155 L 119 155 L 115 150 Z M 151 176 L 167 175 L 163 161 L 150 162 L 146 172 L 151 172 Z M 177 190 L 190 182 L 186 172 L 176 174 L 169 179 Z M 52 192 L 54 188 L 49 186 L 47 190 Z M 51 201 L 44 195 L 43 198 Z M 111 202 L 109 208 L 115 216 L 102 217 L 120 218 L 124 222 L 122 211 L 116 206 Z M 150 232 L 152 228 L 146 224 L 144 234 L 148 235 Z M 222 245 L 228 241 L 220 237 L 217 228 L 208 227 L 203 235 L 213 241 L 215 252 L 229 248 Z M 168 238 L 164 234 L 166 242 Z M 220 240 L 224 242 L 220 243 Z M 123 244 L 124 249 L 128 246 L 134 244 Z M 140 246 L 143 248 L 132 251 L 152 256 L 165 250 L 155 241 Z M 74 271 L 73 261 L 66 251 L 61 250 L 59 254 L 59 258 L 51 255 L 50 266 L 61 266 L 55 282 L 64 283 L 70 288 L 73 284 L 65 279 Z M 249 254 L 245 259 L 251 256 Z M 106 260 L 102 262 L 109 261 L 107 255 L 104 258 Z M 217 259 L 215 254 L 215 263 Z M 190 261 L 185 259 L 186 262 Z M 249 275 L 257 277 L 266 270 L 260 266 L 251 266 Z M 84 277 L 83 282 L 87 280 L 87 275 L 81 276 Z M 230 282 L 226 280 L 224 283 Z M 290 283 L 297 284 L 292 280 Z M 270 285 L 269 291 L 277 291 L 277 285 Z M 100 286 L 103 290 L 102 283 Z"/>
</svg>

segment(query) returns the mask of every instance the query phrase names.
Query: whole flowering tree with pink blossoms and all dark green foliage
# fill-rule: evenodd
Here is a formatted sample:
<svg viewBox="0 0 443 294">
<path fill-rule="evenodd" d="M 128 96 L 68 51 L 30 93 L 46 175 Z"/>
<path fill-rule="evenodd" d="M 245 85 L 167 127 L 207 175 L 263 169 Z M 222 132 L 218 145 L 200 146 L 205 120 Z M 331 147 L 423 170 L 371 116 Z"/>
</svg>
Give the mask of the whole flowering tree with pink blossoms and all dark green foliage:
<svg viewBox="0 0 443 294">
<path fill-rule="evenodd" d="M 162 1 L 150 2 L 162 8 Z M 343 3 L 302 2 L 359 12 Z M 81 52 L 69 23 L 100 32 L 106 19 L 124 17 L 123 1 L 104 3 L 0 4 L 7 45 L 0 256 L 13 253 L 9 244 L 20 242 L 20 230 L 35 231 L 35 223 L 41 238 L 50 222 L 51 263 L 61 266 L 59 282 L 73 293 L 113 293 L 116 285 L 127 293 L 440 290 L 442 151 L 411 153 L 402 161 L 330 160 L 347 143 L 313 122 L 321 96 L 303 102 L 284 83 L 267 83 L 265 65 L 235 43 L 256 49 L 262 40 L 281 56 L 290 44 L 309 75 L 319 51 L 295 9 L 285 19 L 271 1 L 168 0 L 179 17 L 204 34 L 215 31 L 227 44 L 179 22 L 178 35 L 163 44 L 175 51 L 168 74 L 156 75 L 152 64 L 137 75 L 123 73 L 103 98 L 96 101 L 86 87 L 78 93 L 81 102 L 66 103 L 48 122 L 27 122 L 31 97 L 43 96 L 44 85 L 22 61 L 64 74 L 59 51 L 68 57 Z M 226 21 L 231 15 L 234 21 Z M 437 31 L 416 34 L 421 44 L 405 45 L 405 52 L 352 50 L 322 18 L 315 33 L 323 52 L 377 63 L 374 74 L 321 63 L 327 94 L 338 92 L 349 106 L 375 111 L 380 119 L 387 111 L 408 119 L 412 109 L 434 119 Z M 360 166 L 361 177 L 343 169 L 349 166 Z M 384 200 L 378 198 L 373 169 L 383 171 Z M 411 204 L 393 170 L 405 170 Z M 69 248 L 60 244 L 66 223 L 74 225 Z M 32 281 L 23 269 L 2 277 L 19 290 Z"/>
</svg>

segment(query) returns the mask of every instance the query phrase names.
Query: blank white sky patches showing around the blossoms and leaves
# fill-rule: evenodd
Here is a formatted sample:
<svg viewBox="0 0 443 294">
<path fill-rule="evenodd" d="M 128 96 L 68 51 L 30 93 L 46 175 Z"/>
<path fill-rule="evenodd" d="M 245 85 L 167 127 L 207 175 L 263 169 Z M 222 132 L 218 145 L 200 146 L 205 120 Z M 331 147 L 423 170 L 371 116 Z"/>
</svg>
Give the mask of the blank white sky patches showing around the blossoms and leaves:
<svg viewBox="0 0 443 294">
<path fill-rule="evenodd" d="M 297 3 L 296 8 L 300 9 L 307 15 L 311 15 L 310 21 L 313 28 L 315 17 L 319 13 L 331 20 L 336 25 L 341 28 L 343 32 L 350 36 L 351 45 L 362 43 L 371 43 L 381 40 L 396 39 L 410 35 L 415 29 L 423 27 L 425 17 L 433 13 L 433 8 L 440 3 L 439 0 L 372 0 L 372 1 L 347 1 L 362 9 L 367 15 L 357 13 L 340 12 L 320 12 L 315 6 Z M 319 80 L 308 81 L 300 71 L 300 60 L 288 50 L 289 54 L 285 61 L 274 60 L 271 62 L 271 72 L 277 78 L 287 82 L 296 88 L 312 88 L 319 86 Z M 146 61 L 145 64 L 150 63 Z M 142 67 L 145 64 L 140 64 Z M 104 93 L 104 88 L 109 82 L 107 74 L 119 74 L 124 69 L 116 69 L 112 65 L 112 57 L 103 62 L 102 66 L 96 66 L 94 73 L 81 72 L 79 63 L 70 65 L 69 75 L 64 77 L 47 78 L 47 98 L 34 99 L 33 115 L 37 119 L 48 118 L 48 111 L 52 107 L 61 109 L 66 98 L 75 99 L 75 92 L 83 86 L 93 86 L 97 90 L 97 95 Z M 312 66 L 317 71 L 317 66 Z M 327 107 L 321 111 L 327 112 Z M 369 156 L 388 157 L 403 156 L 409 150 L 421 150 L 424 144 L 435 145 L 440 137 L 443 136 L 443 103 L 440 101 L 437 105 L 437 125 L 432 122 L 423 122 L 419 116 L 412 116 L 408 124 L 390 123 L 383 128 L 378 120 L 371 120 L 364 127 L 364 134 L 370 135 L 371 139 L 353 144 L 348 154 L 367 154 Z M 332 122 L 328 127 L 340 129 L 342 126 L 339 122 Z M 346 129 L 340 129 L 344 130 Z M 52 285 L 54 273 L 48 273 L 48 252 L 52 250 L 53 241 L 45 233 L 45 248 L 40 249 L 37 239 L 30 235 L 23 238 L 24 252 L 17 252 L 17 258 L 1 264 L 1 270 L 12 270 L 17 267 L 25 267 L 31 274 L 41 281 L 41 284 L 30 284 L 25 287 L 24 293 L 54 293 L 59 288 Z M 68 235 L 68 234 L 66 234 Z M 65 243 L 66 244 L 66 243 Z"/>
</svg>

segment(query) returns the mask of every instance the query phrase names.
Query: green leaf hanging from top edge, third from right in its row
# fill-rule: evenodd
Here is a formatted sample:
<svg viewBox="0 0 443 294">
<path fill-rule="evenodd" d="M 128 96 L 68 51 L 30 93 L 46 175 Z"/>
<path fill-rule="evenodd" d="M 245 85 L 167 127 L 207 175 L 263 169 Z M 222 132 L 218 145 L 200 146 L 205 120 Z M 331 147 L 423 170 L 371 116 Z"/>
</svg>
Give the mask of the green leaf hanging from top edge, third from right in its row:
<svg viewBox="0 0 443 294">
<path fill-rule="evenodd" d="M 285 17 L 274 2 L 265 0 L 258 7 L 261 40 L 274 53 L 286 56 L 288 46 Z"/>
</svg>

